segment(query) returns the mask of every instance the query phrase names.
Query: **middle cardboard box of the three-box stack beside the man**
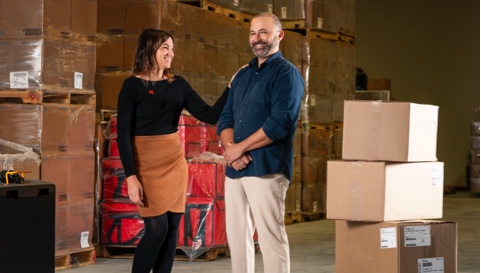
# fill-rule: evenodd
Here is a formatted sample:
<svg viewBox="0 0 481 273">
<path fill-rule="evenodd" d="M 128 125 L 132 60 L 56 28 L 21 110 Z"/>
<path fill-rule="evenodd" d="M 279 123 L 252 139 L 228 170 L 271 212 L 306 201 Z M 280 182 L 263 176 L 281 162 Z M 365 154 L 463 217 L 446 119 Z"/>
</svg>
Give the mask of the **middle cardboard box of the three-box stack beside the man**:
<svg viewBox="0 0 481 273">
<path fill-rule="evenodd" d="M 328 219 L 402 221 L 443 217 L 443 162 L 327 162 Z"/>
</svg>

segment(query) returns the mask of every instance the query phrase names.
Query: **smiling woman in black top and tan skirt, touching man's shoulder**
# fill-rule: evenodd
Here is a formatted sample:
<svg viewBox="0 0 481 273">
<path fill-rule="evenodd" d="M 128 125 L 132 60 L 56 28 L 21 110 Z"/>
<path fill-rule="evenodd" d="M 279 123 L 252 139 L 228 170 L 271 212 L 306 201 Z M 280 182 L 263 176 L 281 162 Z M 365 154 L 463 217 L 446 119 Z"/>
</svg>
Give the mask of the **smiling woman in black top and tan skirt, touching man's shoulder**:
<svg viewBox="0 0 481 273">
<path fill-rule="evenodd" d="M 174 38 L 146 29 L 138 39 L 132 75 L 118 98 L 119 153 L 129 198 L 136 203 L 145 234 L 135 251 L 133 273 L 171 272 L 179 221 L 185 210 L 187 162 L 177 125 L 183 109 L 216 124 L 229 88 L 209 106 L 181 76 L 173 75 Z"/>
</svg>

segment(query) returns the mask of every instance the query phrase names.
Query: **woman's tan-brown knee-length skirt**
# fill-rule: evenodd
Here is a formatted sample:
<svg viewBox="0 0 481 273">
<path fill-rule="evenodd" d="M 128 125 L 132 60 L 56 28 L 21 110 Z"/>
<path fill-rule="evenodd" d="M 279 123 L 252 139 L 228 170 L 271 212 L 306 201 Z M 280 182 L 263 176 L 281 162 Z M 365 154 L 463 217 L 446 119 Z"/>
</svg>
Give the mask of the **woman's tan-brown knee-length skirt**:
<svg viewBox="0 0 481 273">
<path fill-rule="evenodd" d="M 142 217 L 184 212 L 189 179 L 178 133 L 133 138 L 137 177 L 144 189 Z"/>
</svg>

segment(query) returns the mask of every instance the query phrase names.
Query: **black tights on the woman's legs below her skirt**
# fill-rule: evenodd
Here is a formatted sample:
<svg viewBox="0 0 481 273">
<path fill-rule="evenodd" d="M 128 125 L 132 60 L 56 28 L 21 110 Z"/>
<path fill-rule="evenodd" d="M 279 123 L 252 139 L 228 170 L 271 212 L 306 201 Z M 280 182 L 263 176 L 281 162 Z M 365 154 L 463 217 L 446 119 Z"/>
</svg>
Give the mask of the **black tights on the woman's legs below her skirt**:
<svg viewBox="0 0 481 273">
<path fill-rule="evenodd" d="M 135 250 L 132 273 L 170 273 L 182 213 L 144 217 L 145 233 Z"/>
</svg>

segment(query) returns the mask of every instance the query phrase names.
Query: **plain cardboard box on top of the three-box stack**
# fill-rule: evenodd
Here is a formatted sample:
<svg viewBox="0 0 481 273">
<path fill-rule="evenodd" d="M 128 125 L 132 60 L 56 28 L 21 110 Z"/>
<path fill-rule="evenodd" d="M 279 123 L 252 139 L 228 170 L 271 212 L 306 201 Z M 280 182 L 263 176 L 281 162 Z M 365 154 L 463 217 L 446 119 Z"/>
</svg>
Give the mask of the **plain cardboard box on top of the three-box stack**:
<svg viewBox="0 0 481 273">
<path fill-rule="evenodd" d="M 436 161 L 438 106 L 345 101 L 345 160 Z"/>
</svg>

